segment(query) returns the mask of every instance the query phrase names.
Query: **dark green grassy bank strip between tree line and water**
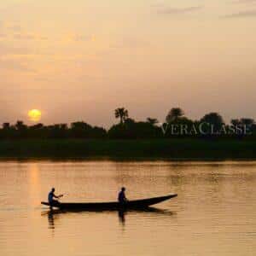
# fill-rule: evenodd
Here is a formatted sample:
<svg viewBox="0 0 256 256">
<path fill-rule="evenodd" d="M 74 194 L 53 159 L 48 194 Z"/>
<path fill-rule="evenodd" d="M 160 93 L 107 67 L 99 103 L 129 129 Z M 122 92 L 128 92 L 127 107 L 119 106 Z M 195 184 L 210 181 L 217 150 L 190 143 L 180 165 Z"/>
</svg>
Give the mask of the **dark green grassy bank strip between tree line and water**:
<svg viewBox="0 0 256 256">
<path fill-rule="evenodd" d="M 256 160 L 250 140 L 4 140 L 1 158 L 163 158 L 176 160 Z"/>
</svg>

